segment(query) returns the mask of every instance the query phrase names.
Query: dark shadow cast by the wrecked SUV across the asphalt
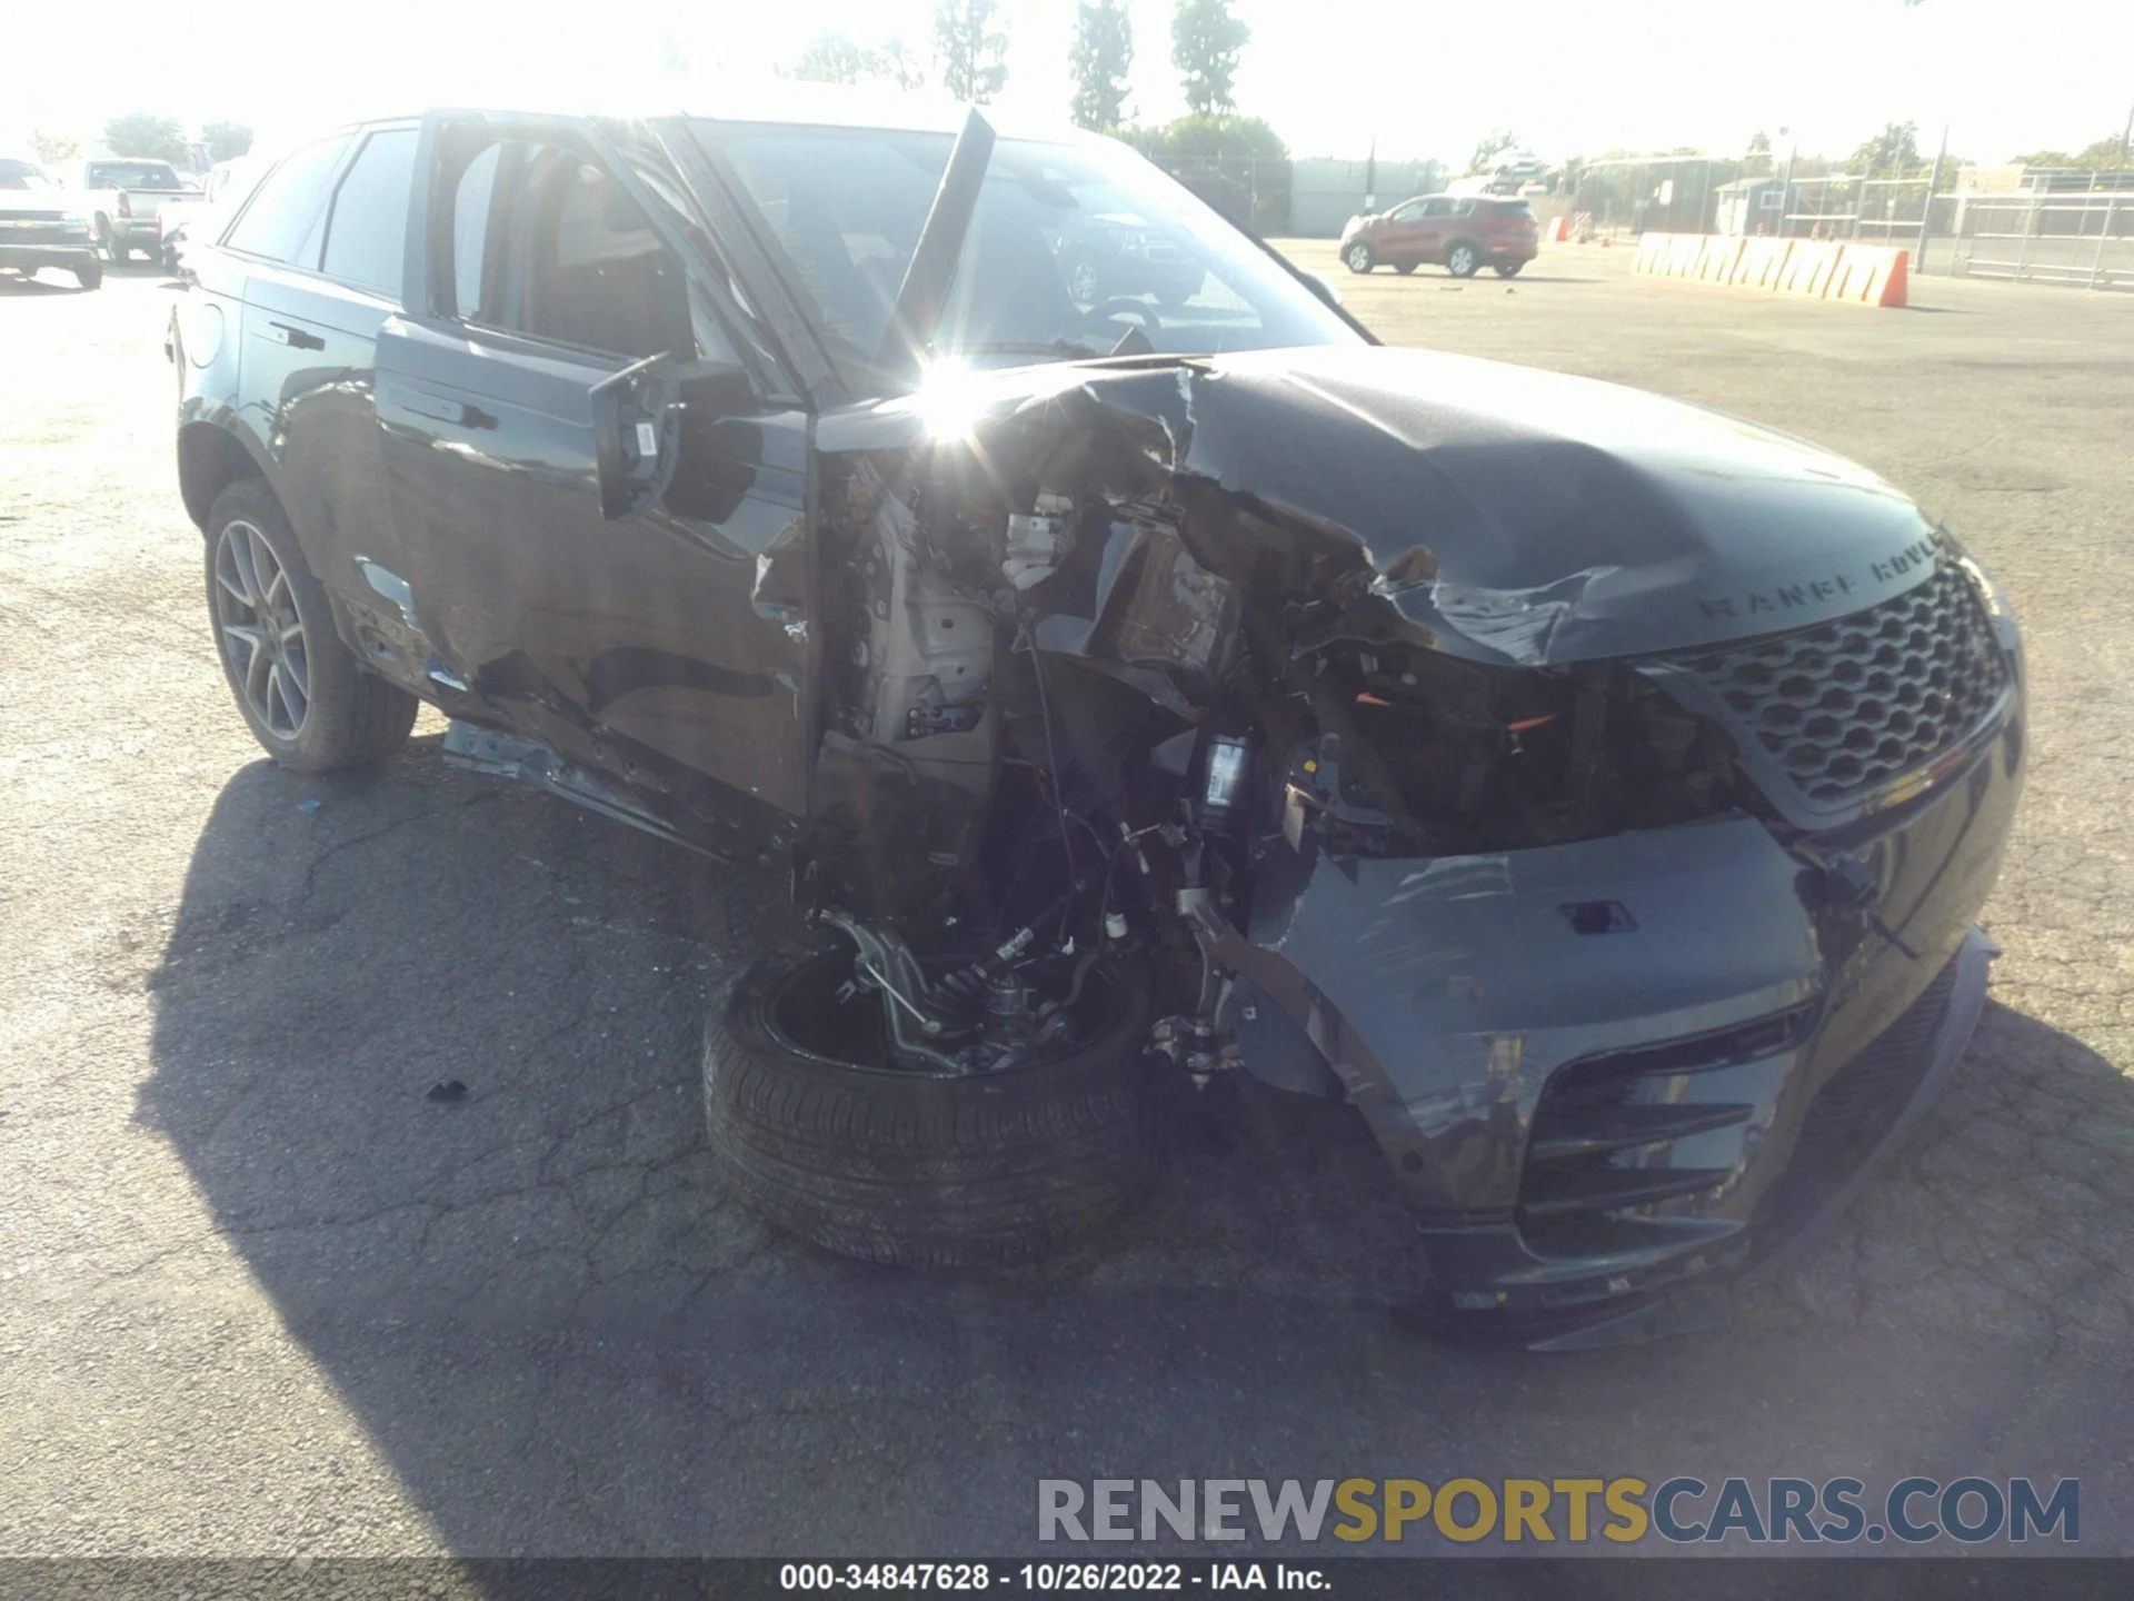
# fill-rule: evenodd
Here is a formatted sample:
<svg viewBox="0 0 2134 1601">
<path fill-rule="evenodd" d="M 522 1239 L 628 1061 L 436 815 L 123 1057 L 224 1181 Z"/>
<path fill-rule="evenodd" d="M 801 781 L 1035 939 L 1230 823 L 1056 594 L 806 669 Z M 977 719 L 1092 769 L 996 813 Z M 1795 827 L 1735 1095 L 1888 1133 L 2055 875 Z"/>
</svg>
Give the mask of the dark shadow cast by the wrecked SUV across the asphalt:
<svg viewBox="0 0 2134 1601">
<path fill-rule="evenodd" d="M 2055 1266 L 2061 1242 L 2134 1210 L 2134 1170 L 2032 1127 L 2102 1097 L 2123 1127 L 2125 1080 L 1995 1008 L 1865 1232 L 1761 1291 L 1746 1330 L 1665 1356 L 1398 1334 L 1385 1309 L 1423 1266 L 1361 1121 L 1251 1084 L 1174 1095 L 1159 1193 L 1080 1255 L 877 1270 L 764 1230 L 700 1136 L 704 1005 L 790 931 L 775 875 L 448 771 L 433 739 L 367 777 L 258 762 L 216 798 L 145 980 L 139 1119 L 452 1550 L 1009 1550 L 1033 1477 L 1099 1458 L 1338 1475 L 1406 1452 L 1430 1477 L 1536 1430 L 1579 1441 L 1566 1417 L 1590 1434 L 1573 1454 L 1660 1452 L 1701 1407 L 1737 1413 L 1743 1343 L 1775 1341 L 1763 1383 L 1807 1364 L 1803 1394 L 1844 1341 L 1916 1370 L 1950 1328 L 1927 1319 L 2023 1294 L 1980 1264 L 2072 1281 L 2091 1264 Z M 1833 1439 L 1852 1428 L 1825 1405 Z M 826 1473 L 869 1488 L 809 1511 L 796 1486 L 824 1496 Z"/>
</svg>

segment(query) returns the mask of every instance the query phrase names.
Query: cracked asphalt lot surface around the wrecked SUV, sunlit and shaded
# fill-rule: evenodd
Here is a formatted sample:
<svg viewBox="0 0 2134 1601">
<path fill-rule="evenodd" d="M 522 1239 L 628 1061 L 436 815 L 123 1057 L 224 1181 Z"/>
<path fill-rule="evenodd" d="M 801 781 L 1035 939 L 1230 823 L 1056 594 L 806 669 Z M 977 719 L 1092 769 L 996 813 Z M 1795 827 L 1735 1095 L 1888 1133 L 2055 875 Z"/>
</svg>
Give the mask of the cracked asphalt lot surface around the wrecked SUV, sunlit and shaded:
<svg viewBox="0 0 2134 1601">
<path fill-rule="evenodd" d="M 1404 1334 L 1374 1146 L 1274 1093 L 1180 1123 L 1084 1255 L 913 1277 L 768 1234 L 706 1159 L 696 1040 L 781 886 L 448 773 L 431 715 L 373 777 L 260 760 L 175 489 L 173 290 L 11 286 L 0 1554 L 1005 1554 L 1037 1477 L 1396 1473 L 2079 1475 L 2083 1550 L 2134 1552 L 2134 299 L 1295 254 L 1389 342 L 1854 455 L 2006 583 L 2008 954 L 1854 1212 L 1733 1330 L 1583 1358 Z"/>
</svg>

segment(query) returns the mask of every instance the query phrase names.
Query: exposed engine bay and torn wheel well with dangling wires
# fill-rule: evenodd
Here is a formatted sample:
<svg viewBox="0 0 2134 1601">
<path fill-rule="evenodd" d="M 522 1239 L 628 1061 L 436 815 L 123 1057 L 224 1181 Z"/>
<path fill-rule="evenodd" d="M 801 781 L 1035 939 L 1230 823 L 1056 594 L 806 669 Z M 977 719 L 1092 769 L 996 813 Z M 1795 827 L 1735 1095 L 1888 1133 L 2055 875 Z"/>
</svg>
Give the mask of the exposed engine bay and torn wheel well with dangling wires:
<svg viewBox="0 0 2134 1601">
<path fill-rule="evenodd" d="M 1108 948 L 1157 1048 L 1238 1065 L 1219 931 L 1270 854 L 1472 856 L 1758 809 L 1729 734 L 1624 662 L 1438 649 L 1353 538 L 1167 472 L 1161 438 L 1003 427 L 837 457 L 826 805 L 802 899 L 886 1046 L 973 1074 L 1071 1044 Z M 1432 576 L 1430 553 L 1400 572 Z M 1607 918 L 1607 909 L 1583 916 Z M 971 950 L 928 978 L 928 963 Z"/>
</svg>

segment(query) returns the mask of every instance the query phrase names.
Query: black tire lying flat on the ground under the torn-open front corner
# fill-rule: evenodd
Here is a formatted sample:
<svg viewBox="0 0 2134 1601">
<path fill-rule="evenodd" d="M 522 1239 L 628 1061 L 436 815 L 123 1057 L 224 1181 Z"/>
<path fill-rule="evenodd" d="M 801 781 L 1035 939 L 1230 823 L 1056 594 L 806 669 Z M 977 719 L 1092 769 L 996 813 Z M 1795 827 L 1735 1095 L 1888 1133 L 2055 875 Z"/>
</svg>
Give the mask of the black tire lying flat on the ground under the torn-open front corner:
<svg viewBox="0 0 2134 1601">
<path fill-rule="evenodd" d="M 764 956 L 704 1025 L 711 1148 L 753 1210 L 839 1255 L 954 1268 L 1082 1240 L 1142 1195 L 1157 1153 L 1144 982 L 1101 961 L 1082 1044 L 999 1074 L 926 1076 L 824 1044 L 824 997 L 851 973 L 841 946 Z M 879 1016 L 881 1003 L 854 1005 Z"/>
</svg>

